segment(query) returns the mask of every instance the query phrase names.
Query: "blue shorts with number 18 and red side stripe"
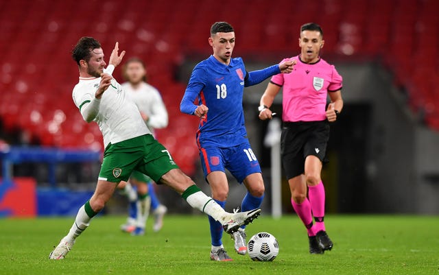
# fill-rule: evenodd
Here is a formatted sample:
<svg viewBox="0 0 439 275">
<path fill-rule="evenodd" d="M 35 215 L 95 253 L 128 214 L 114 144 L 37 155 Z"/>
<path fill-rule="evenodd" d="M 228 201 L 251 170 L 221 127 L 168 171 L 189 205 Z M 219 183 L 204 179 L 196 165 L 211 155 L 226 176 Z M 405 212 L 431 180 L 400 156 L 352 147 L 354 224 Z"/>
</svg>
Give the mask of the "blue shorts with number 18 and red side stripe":
<svg viewBox="0 0 439 275">
<path fill-rule="evenodd" d="M 204 178 L 213 171 L 226 172 L 227 169 L 242 183 L 248 175 L 261 173 L 259 162 L 248 142 L 227 148 L 203 147 L 200 149 L 200 158 Z"/>
</svg>

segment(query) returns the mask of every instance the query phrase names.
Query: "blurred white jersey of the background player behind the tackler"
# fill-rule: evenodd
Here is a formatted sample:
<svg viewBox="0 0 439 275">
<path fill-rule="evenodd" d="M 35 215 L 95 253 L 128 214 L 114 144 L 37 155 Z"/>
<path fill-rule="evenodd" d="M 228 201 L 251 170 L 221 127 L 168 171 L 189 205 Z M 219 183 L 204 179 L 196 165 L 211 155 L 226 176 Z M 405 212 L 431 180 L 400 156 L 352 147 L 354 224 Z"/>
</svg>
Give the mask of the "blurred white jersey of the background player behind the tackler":
<svg viewBox="0 0 439 275">
<path fill-rule="evenodd" d="M 151 132 L 154 132 L 154 128 L 161 129 L 167 126 L 167 110 L 156 88 L 145 82 L 141 82 L 137 88 L 126 82 L 122 84 L 122 88 L 130 95 L 137 108 L 147 115 L 146 125 Z"/>
</svg>

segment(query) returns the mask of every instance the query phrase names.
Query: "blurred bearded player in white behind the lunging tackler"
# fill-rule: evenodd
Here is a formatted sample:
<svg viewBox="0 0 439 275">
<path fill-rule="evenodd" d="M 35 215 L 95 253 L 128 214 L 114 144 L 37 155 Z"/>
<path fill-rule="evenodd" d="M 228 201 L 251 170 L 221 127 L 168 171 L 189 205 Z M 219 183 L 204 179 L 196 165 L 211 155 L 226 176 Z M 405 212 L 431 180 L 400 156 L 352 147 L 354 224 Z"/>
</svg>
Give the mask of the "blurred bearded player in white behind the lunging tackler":
<svg viewBox="0 0 439 275">
<path fill-rule="evenodd" d="M 157 89 L 146 83 L 146 67 L 143 61 L 139 58 L 130 58 L 123 65 L 122 74 L 126 80 L 122 88 L 139 108 L 142 119 L 152 134 L 154 135 L 154 129 L 167 127 L 168 115 L 165 104 Z M 161 230 L 163 215 L 167 212 L 167 208 L 158 201 L 151 178 L 139 171 L 133 171 L 123 191 L 130 202 L 130 214 L 126 224 L 121 225 L 121 230 L 131 232 L 132 235 L 144 235 L 150 206 L 154 216 L 152 229 L 154 232 Z"/>
</svg>

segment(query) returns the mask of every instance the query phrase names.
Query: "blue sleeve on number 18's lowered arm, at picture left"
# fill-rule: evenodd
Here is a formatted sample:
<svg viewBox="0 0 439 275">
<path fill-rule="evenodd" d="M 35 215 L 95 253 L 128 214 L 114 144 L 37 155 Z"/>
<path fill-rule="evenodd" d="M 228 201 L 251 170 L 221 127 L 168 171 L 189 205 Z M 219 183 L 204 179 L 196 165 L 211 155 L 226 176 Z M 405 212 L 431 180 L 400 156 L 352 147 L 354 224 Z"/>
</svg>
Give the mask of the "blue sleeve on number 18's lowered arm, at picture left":
<svg viewBox="0 0 439 275">
<path fill-rule="evenodd" d="M 201 68 L 193 69 L 189 84 L 187 84 L 185 95 L 180 102 L 180 111 L 188 115 L 193 115 L 197 105 L 193 104 L 195 99 L 200 95 L 206 83 L 206 73 Z"/>
</svg>

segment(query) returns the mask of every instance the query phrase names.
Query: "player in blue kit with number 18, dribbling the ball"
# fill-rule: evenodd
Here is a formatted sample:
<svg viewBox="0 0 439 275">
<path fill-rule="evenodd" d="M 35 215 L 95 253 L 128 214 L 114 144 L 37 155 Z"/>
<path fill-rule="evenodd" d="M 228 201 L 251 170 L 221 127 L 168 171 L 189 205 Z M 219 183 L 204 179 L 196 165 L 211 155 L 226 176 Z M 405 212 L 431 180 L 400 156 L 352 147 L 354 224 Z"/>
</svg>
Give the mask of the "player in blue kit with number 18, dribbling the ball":
<svg viewBox="0 0 439 275">
<path fill-rule="evenodd" d="M 295 63 L 287 61 L 259 71 L 247 72 L 241 58 L 232 58 L 235 32 L 226 22 L 212 25 L 209 45 L 213 48 L 213 55 L 193 69 L 180 110 L 201 119 L 196 139 L 212 198 L 222 207 L 226 204 L 228 181 L 225 169 L 228 169 L 248 190 L 242 200 L 241 211 L 259 208 L 265 187 L 261 167 L 250 147 L 244 125 L 244 86 L 259 84 L 278 73 L 290 73 Z M 196 98 L 199 105 L 194 104 Z M 211 260 L 231 261 L 222 245 L 221 224 L 210 217 L 209 223 Z M 235 240 L 235 250 L 241 255 L 247 252 L 244 229 L 243 226 L 231 235 Z"/>
</svg>

